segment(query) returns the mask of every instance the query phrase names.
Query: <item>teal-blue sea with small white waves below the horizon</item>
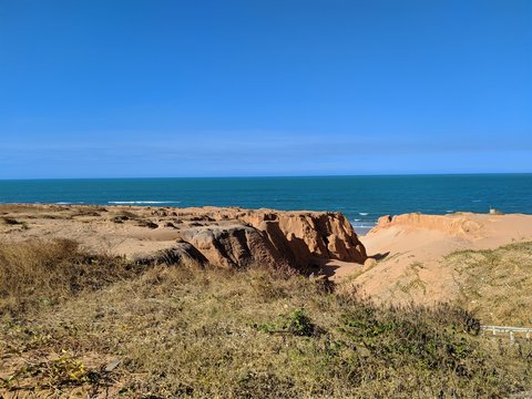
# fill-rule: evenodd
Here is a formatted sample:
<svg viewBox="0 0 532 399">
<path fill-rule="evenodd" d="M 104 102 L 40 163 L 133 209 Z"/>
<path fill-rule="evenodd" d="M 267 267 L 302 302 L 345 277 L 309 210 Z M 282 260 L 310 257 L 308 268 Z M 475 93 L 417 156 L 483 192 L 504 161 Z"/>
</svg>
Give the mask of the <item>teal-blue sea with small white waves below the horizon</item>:
<svg viewBox="0 0 532 399">
<path fill-rule="evenodd" d="M 532 174 L 11 180 L 0 203 L 338 211 L 364 234 L 388 214 L 532 214 Z"/>
</svg>

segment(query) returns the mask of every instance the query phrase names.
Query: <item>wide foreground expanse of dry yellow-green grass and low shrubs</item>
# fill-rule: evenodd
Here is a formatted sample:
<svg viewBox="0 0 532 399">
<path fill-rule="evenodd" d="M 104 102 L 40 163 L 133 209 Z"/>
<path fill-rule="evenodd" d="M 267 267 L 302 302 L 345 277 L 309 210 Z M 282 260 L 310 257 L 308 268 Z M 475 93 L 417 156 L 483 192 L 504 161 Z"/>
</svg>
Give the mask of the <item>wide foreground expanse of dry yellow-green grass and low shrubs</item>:
<svg viewBox="0 0 532 399">
<path fill-rule="evenodd" d="M 0 397 L 498 398 L 532 346 L 452 306 L 381 307 L 259 267 L 140 267 L 0 244 Z"/>
</svg>

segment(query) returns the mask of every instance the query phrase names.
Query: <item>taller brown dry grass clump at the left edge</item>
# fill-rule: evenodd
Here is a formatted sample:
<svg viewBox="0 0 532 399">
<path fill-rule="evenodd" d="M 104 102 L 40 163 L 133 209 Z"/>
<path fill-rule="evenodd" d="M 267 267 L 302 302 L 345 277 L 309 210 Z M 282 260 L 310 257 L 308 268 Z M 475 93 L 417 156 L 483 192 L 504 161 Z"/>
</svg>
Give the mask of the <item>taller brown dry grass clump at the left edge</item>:
<svg viewBox="0 0 532 399">
<path fill-rule="evenodd" d="M 51 306 L 135 273 L 120 257 L 85 254 L 68 239 L 0 243 L 0 313 Z"/>
</svg>

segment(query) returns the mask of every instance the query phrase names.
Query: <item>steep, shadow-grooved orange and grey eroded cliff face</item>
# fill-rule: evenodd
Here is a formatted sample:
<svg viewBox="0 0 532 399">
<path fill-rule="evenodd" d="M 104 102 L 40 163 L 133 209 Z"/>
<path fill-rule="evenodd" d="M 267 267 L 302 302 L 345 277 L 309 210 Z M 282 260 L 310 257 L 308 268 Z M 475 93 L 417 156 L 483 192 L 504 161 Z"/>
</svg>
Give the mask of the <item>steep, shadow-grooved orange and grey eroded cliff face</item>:
<svg viewBox="0 0 532 399">
<path fill-rule="evenodd" d="M 212 264 L 306 267 L 316 258 L 362 264 L 366 249 L 349 222 L 337 213 L 205 208 L 222 226 L 207 224 L 182 232 Z M 198 209 L 191 211 L 197 214 Z M 197 216 L 196 216 L 197 218 Z M 228 222 L 232 224 L 227 225 Z"/>
</svg>

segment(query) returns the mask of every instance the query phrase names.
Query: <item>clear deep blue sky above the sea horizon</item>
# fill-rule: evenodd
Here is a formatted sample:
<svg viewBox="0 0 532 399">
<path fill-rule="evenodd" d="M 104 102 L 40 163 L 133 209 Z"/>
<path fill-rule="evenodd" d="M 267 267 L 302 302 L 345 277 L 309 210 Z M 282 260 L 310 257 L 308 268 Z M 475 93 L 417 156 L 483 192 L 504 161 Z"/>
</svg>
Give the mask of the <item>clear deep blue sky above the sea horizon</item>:
<svg viewBox="0 0 532 399">
<path fill-rule="evenodd" d="M 0 178 L 532 172 L 530 0 L 0 0 Z"/>
</svg>

